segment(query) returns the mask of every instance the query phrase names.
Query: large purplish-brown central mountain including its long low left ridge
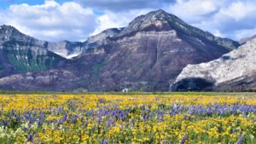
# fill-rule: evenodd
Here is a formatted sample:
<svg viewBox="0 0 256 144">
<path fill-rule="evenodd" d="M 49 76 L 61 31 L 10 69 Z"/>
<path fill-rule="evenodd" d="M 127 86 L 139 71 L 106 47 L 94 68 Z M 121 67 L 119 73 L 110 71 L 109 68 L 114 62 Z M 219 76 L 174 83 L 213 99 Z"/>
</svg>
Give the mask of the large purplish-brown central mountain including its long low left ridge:
<svg viewBox="0 0 256 144">
<path fill-rule="evenodd" d="M 0 78 L 0 89 L 166 91 L 183 67 L 215 60 L 239 46 L 163 10 L 83 43 L 46 43 L 44 49 L 62 55 L 64 65 Z"/>
</svg>

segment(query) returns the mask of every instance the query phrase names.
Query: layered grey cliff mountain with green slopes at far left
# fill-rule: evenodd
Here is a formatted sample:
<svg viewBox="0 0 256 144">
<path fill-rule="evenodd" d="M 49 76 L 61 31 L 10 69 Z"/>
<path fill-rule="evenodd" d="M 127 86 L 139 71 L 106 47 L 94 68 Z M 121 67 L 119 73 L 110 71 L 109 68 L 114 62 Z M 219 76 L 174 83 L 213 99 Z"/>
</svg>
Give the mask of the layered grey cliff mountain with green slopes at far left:
<svg viewBox="0 0 256 144">
<path fill-rule="evenodd" d="M 0 26 L 0 77 L 61 66 L 65 60 L 45 49 L 45 44 L 22 34 L 15 27 Z"/>
</svg>

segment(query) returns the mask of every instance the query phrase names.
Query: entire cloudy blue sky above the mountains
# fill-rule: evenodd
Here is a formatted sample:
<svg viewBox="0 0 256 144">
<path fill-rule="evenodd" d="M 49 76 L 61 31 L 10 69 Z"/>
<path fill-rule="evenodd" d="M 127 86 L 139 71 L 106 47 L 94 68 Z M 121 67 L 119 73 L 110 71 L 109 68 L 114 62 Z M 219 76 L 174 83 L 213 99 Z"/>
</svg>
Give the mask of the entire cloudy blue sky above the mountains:
<svg viewBox="0 0 256 144">
<path fill-rule="evenodd" d="M 157 9 L 218 37 L 256 34 L 255 0 L 0 0 L 0 25 L 48 41 L 84 41 Z"/>
</svg>

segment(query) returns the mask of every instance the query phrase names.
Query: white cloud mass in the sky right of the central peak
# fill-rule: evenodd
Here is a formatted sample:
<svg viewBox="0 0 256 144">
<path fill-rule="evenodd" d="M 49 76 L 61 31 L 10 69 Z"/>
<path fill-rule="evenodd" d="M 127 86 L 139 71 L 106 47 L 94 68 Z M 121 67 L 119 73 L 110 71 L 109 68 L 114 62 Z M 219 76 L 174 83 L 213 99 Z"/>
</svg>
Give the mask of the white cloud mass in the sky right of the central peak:
<svg viewBox="0 0 256 144">
<path fill-rule="evenodd" d="M 240 39 L 256 33 L 254 0 L 177 0 L 164 9 L 221 37 Z"/>
</svg>

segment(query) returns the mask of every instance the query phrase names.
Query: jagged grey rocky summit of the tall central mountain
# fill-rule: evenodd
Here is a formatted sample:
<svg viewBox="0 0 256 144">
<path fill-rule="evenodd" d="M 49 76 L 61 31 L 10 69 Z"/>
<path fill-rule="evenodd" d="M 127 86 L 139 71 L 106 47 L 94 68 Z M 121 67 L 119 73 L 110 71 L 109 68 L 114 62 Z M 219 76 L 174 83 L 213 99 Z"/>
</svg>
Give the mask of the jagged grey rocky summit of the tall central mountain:
<svg viewBox="0 0 256 144">
<path fill-rule="evenodd" d="M 170 31 L 175 31 L 177 37 L 196 37 L 197 39 L 201 39 L 202 43 L 213 42 L 227 50 L 236 49 L 240 46 L 239 43 L 229 38 L 215 37 L 210 32 L 205 32 L 195 26 L 190 26 L 176 15 L 169 14 L 162 9 L 138 16 L 129 23 L 129 26 L 125 27 L 124 30 L 113 38 L 121 39 L 123 37 L 132 37 L 136 35 L 137 32 Z"/>
</svg>

